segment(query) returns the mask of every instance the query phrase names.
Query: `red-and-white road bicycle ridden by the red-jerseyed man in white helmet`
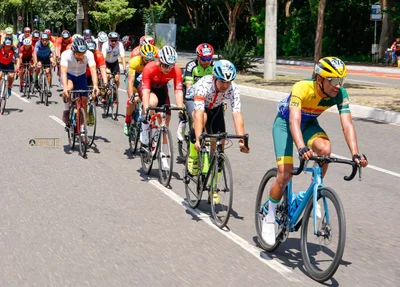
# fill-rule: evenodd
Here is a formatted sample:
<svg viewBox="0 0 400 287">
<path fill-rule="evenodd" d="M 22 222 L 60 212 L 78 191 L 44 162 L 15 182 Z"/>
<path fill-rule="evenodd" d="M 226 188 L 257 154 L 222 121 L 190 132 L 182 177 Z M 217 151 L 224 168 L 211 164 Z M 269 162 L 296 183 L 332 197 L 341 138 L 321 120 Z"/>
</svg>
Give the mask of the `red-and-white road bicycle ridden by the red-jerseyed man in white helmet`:
<svg viewBox="0 0 400 287">
<path fill-rule="evenodd" d="M 183 108 L 171 107 L 165 104 L 161 107 L 148 107 L 146 111 L 146 119 L 148 119 L 149 130 L 143 131 L 148 133 L 149 145 L 140 148 L 140 158 L 142 168 L 146 174 L 151 172 L 153 161 L 158 159 L 159 164 L 159 181 L 164 186 L 169 186 L 173 171 L 174 149 L 172 143 L 171 130 L 166 124 L 167 111 L 180 111 Z M 156 111 L 152 116 L 149 116 L 150 111 Z M 159 140 L 161 139 L 161 140 Z M 165 149 L 165 150 L 164 150 Z M 162 161 L 168 167 L 163 167 Z"/>
</svg>

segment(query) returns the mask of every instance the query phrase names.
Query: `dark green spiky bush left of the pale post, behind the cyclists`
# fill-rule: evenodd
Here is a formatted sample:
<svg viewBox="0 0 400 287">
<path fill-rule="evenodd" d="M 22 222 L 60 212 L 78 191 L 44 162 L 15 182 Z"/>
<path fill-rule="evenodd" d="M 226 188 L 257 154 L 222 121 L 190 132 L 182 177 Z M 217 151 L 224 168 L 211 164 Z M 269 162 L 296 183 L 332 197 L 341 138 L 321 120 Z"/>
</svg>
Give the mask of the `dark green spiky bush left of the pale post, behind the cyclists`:
<svg viewBox="0 0 400 287">
<path fill-rule="evenodd" d="M 255 67 L 252 64 L 254 59 L 248 55 L 247 46 L 244 41 L 237 41 L 235 44 L 227 43 L 219 52 L 219 58 L 231 61 L 239 72 L 246 72 Z"/>
</svg>

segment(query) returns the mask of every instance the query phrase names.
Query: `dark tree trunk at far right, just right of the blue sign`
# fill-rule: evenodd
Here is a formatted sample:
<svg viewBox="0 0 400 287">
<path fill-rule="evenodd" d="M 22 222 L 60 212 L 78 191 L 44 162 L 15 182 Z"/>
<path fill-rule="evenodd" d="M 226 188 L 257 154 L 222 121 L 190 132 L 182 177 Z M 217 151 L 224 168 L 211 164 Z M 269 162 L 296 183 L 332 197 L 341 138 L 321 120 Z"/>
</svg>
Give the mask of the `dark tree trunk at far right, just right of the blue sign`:
<svg viewBox="0 0 400 287">
<path fill-rule="evenodd" d="M 394 42 L 395 29 L 392 22 L 392 14 L 384 12 L 390 11 L 393 8 L 395 0 L 380 0 L 382 15 L 382 30 L 381 36 L 379 37 L 379 58 L 385 56 L 385 51 Z"/>
</svg>

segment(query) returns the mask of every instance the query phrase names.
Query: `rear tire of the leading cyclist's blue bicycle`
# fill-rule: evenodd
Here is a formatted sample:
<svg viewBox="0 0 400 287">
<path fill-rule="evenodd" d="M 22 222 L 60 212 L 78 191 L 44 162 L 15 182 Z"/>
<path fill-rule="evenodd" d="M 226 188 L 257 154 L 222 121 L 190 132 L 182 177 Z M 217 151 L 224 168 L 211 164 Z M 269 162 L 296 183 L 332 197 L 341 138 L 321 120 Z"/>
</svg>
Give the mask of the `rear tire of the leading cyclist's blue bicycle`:
<svg viewBox="0 0 400 287">
<path fill-rule="evenodd" d="M 268 252 L 274 251 L 281 244 L 280 240 L 276 240 L 275 244 L 273 246 L 270 246 L 263 240 L 262 235 L 261 235 L 263 220 L 267 214 L 267 213 L 264 213 L 263 207 L 264 207 L 264 204 L 268 204 L 268 199 L 269 199 L 269 189 L 267 190 L 267 192 L 268 192 L 267 196 L 263 198 L 263 195 L 265 192 L 265 187 L 267 186 L 268 183 L 271 183 L 272 181 L 274 181 L 276 179 L 277 173 L 278 173 L 278 169 L 272 168 L 264 174 L 264 176 L 260 182 L 260 185 L 258 187 L 257 196 L 256 196 L 255 218 L 254 219 L 255 219 L 258 243 L 260 244 L 262 249 L 264 249 L 265 251 L 268 251 Z M 278 215 L 279 210 L 282 210 L 282 209 L 284 210 L 284 208 L 281 208 L 279 206 L 281 206 L 282 203 L 286 201 L 286 197 L 287 197 L 286 194 L 287 194 L 287 192 L 285 190 L 285 192 L 283 193 L 283 197 L 282 197 L 283 200 L 281 200 L 281 202 L 278 204 L 278 206 L 276 208 L 277 215 Z M 265 207 L 265 209 L 268 210 L 267 206 Z M 279 237 L 279 233 L 277 233 L 276 237 L 277 238 Z"/>
</svg>

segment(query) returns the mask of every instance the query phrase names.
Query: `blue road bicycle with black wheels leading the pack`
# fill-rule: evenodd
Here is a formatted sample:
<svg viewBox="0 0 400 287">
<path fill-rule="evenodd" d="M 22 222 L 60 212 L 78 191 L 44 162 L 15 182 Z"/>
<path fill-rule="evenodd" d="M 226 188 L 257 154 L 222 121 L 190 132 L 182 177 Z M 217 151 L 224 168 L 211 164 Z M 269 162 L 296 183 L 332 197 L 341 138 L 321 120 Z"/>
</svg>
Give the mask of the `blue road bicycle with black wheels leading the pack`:
<svg viewBox="0 0 400 287">
<path fill-rule="evenodd" d="M 352 160 L 313 156 L 314 167 L 307 167 L 304 159 L 292 171 L 299 175 L 303 170 L 312 172 L 310 186 L 297 196 L 292 192 L 292 181 L 285 187 L 281 201 L 276 209 L 276 243 L 269 246 L 263 240 L 262 224 L 268 214 L 269 191 L 277 176 L 277 169 L 267 171 L 258 188 L 255 205 L 255 225 L 260 246 L 272 252 L 285 242 L 290 232 L 301 227 L 301 255 L 309 276 L 318 282 L 329 280 L 336 272 L 342 259 L 346 241 L 346 220 L 339 195 L 323 184 L 322 166 L 328 163 L 341 163 L 352 166 L 352 180 L 358 170 L 361 180 L 361 167 Z M 308 163 L 308 161 L 307 161 Z"/>
</svg>

